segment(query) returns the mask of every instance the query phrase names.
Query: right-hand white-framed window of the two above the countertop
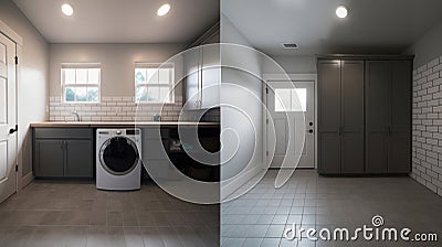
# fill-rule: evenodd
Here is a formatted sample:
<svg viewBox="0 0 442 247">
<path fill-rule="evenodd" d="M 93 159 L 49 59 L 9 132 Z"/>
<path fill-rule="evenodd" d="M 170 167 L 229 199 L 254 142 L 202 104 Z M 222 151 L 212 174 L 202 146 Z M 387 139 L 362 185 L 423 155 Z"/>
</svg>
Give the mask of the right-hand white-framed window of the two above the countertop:
<svg viewBox="0 0 442 247">
<path fill-rule="evenodd" d="M 172 64 L 135 64 L 135 100 L 137 103 L 173 103 Z"/>
</svg>

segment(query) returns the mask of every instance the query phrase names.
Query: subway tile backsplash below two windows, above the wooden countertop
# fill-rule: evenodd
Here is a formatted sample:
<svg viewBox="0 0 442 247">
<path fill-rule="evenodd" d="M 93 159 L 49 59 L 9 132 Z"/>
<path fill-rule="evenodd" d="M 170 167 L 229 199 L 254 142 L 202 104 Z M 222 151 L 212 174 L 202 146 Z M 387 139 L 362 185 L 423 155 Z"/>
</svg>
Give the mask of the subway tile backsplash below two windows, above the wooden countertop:
<svg viewBox="0 0 442 247">
<path fill-rule="evenodd" d="M 152 121 L 154 115 L 161 120 L 177 121 L 182 97 L 175 96 L 175 104 L 135 104 L 134 97 L 102 97 L 99 104 L 65 104 L 61 97 L 50 97 L 50 121 L 74 121 L 76 111 L 82 121 Z"/>
</svg>

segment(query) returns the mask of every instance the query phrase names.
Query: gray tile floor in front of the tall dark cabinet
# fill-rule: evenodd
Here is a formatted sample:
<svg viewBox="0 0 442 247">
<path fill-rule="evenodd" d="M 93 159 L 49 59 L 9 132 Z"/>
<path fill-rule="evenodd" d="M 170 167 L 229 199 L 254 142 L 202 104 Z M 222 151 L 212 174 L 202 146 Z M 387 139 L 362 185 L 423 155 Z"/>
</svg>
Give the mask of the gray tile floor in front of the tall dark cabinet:
<svg viewBox="0 0 442 247">
<path fill-rule="evenodd" d="M 274 189 L 276 171 L 244 196 L 221 205 L 221 243 L 235 246 L 442 246 L 406 241 L 312 241 L 305 234 L 286 240 L 286 227 L 354 230 L 381 215 L 385 227 L 409 227 L 442 238 L 442 197 L 411 178 L 324 178 L 299 170 L 282 189 Z M 360 235 L 361 236 L 361 235 Z M 410 235 L 412 236 L 412 235 Z"/>
</svg>

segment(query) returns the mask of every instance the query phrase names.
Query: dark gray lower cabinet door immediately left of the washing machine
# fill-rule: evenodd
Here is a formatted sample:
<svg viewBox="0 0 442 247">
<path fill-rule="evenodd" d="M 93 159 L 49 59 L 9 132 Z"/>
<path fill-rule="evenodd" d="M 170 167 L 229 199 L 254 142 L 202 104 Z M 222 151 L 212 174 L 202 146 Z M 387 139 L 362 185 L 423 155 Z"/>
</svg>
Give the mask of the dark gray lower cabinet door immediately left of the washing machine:
<svg viewBox="0 0 442 247">
<path fill-rule="evenodd" d="M 66 141 L 66 162 L 64 176 L 92 178 L 93 158 L 91 140 Z"/>
</svg>

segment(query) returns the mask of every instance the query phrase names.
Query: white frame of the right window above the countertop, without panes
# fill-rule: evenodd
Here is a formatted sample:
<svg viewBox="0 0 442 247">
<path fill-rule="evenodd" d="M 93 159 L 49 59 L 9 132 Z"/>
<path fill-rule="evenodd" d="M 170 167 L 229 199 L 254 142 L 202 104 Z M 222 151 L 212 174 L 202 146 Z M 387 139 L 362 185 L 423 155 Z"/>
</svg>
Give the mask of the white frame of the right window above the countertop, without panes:
<svg viewBox="0 0 442 247">
<path fill-rule="evenodd" d="M 146 83 L 137 83 L 136 78 L 135 78 L 135 71 L 137 68 L 156 68 L 156 69 L 158 69 L 158 68 L 171 68 L 171 72 L 170 72 L 171 82 L 169 82 L 168 84 L 160 84 L 160 83 L 151 84 L 151 83 L 147 83 L 147 82 Z M 175 105 L 175 103 L 176 103 L 175 101 L 175 63 L 136 62 L 135 65 L 134 65 L 134 74 L 133 75 L 134 75 L 134 101 L 135 101 L 136 105 Z M 172 94 L 170 95 L 171 99 L 168 103 L 165 103 L 164 100 L 162 101 L 138 101 L 138 99 L 137 99 L 137 87 L 139 87 L 139 86 L 146 87 L 146 88 L 149 88 L 149 87 L 161 88 L 161 87 L 166 87 L 167 86 L 169 88 L 169 92 L 170 90 L 172 92 Z"/>
</svg>

